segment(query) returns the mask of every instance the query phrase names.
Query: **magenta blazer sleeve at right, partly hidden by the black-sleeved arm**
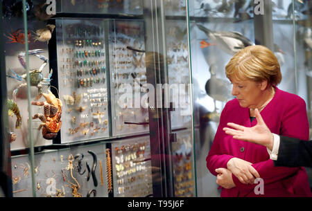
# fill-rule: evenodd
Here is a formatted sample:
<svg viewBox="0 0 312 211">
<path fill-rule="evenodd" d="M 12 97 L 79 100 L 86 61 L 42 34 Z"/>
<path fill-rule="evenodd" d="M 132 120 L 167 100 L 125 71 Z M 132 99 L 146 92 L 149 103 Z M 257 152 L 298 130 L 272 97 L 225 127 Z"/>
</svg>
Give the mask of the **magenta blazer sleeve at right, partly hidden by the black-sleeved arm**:
<svg viewBox="0 0 312 211">
<path fill-rule="evenodd" d="M 281 118 L 279 134 L 308 140 L 309 121 L 306 114 L 306 104 L 304 100 L 298 100 L 284 111 L 284 116 Z M 292 176 L 293 174 L 296 174 L 298 169 L 300 169 L 300 167 L 275 167 L 273 160 L 271 159 L 254 163 L 252 167 L 257 170 L 265 184 L 274 183 L 288 176 Z M 255 185 L 245 185 L 241 183 L 234 174 L 232 174 L 232 178 L 238 188 L 250 189 L 255 187 Z"/>
</svg>

